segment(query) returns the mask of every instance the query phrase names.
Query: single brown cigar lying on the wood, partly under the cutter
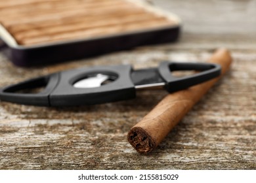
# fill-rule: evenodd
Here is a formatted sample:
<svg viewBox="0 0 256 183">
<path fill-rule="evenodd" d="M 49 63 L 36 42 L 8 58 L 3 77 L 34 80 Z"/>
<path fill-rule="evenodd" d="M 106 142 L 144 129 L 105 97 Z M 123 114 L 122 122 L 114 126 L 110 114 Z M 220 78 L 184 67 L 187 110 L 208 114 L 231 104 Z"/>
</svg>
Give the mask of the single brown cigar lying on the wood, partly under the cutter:
<svg viewBox="0 0 256 183">
<path fill-rule="evenodd" d="M 232 58 L 225 48 L 217 50 L 209 63 L 221 65 L 221 76 L 228 71 Z M 221 78 L 214 78 L 186 90 L 168 94 L 127 135 L 129 143 L 140 154 L 148 154 L 167 136 L 185 114 Z"/>
</svg>

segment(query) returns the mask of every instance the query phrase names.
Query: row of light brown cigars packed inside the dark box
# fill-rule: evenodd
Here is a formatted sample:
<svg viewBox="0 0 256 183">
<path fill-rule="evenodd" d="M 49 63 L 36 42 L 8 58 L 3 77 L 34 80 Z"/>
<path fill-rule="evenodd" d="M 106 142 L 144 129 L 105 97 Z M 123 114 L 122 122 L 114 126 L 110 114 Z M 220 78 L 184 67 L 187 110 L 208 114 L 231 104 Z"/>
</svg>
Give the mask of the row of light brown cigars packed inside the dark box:
<svg viewBox="0 0 256 183">
<path fill-rule="evenodd" d="M 0 4 L 3 27 L 21 45 L 85 39 L 177 24 L 121 0 L 9 0 Z"/>
</svg>

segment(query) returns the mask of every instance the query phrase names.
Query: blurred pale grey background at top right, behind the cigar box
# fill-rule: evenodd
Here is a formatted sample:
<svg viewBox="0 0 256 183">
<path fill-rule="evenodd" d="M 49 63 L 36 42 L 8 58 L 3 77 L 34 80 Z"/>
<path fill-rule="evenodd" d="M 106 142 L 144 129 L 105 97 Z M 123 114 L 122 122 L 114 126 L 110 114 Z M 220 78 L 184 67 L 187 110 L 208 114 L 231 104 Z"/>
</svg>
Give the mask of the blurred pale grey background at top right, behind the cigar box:
<svg viewBox="0 0 256 183">
<path fill-rule="evenodd" d="M 256 37 L 255 0 L 151 0 L 178 14 L 184 33 L 253 34 Z"/>
</svg>

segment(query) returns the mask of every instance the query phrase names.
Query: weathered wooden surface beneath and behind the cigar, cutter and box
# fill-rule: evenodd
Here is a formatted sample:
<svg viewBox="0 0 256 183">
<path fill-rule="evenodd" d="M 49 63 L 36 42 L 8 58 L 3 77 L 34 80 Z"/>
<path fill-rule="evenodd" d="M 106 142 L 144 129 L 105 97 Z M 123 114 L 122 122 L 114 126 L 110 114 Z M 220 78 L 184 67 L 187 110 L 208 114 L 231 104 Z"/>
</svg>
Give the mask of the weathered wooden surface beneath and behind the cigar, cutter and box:
<svg viewBox="0 0 256 183">
<path fill-rule="evenodd" d="M 0 103 L 0 169 L 255 169 L 256 2 L 154 1 L 184 21 L 176 44 L 144 46 L 98 58 L 30 69 L 0 53 L 0 87 L 75 67 L 163 59 L 205 61 L 232 52 L 230 72 L 203 97 L 152 154 L 142 156 L 127 132 L 167 93 L 90 107 L 46 108 Z"/>
</svg>

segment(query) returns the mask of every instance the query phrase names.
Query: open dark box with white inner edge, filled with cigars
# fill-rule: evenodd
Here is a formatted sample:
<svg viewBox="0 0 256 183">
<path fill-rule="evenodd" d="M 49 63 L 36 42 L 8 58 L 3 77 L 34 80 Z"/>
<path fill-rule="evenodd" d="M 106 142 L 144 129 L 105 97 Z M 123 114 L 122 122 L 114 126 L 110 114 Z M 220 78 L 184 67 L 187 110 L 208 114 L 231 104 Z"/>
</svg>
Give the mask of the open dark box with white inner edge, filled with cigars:
<svg viewBox="0 0 256 183">
<path fill-rule="evenodd" d="M 176 41 L 180 25 L 142 0 L 0 0 L 0 38 L 19 66 Z"/>
</svg>

